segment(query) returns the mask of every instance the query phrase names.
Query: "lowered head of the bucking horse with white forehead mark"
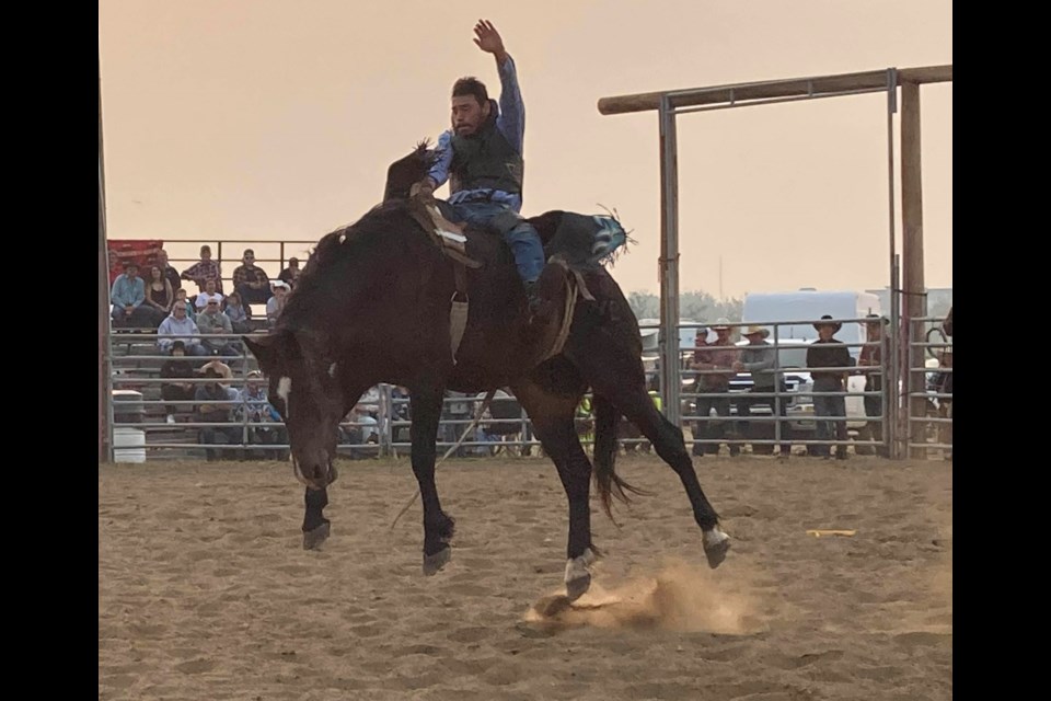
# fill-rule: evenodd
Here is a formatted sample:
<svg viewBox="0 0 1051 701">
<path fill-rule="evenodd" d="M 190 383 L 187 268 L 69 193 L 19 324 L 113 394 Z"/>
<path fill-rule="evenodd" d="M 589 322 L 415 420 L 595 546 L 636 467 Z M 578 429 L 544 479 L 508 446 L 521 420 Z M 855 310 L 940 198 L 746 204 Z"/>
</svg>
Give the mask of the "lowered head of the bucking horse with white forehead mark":
<svg viewBox="0 0 1051 701">
<path fill-rule="evenodd" d="M 335 480 L 332 461 L 343 418 L 336 363 L 307 332 L 282 329 L 243 340 L 270 380 L 269 402 L 288 428 L 297 479 L 311 489 L 327 486 Z"/>
</svg>

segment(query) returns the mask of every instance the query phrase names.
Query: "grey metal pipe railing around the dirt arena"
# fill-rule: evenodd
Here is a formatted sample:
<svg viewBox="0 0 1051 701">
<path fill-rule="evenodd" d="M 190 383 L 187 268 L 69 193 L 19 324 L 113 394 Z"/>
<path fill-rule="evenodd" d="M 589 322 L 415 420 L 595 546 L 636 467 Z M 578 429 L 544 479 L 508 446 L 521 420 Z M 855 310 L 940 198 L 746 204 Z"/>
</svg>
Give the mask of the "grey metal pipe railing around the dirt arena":
<svg viewBox="0 0 1051 701">
<path fill-rule="evenodd" d="M 854 446 L 855 451 L 861 450 L 875 451 L 878 455 L 892 455 L 891 447 L 899 439 L 897 435 L 896 421 L 892 417 L 892 407 L 897 400 L 901 398 L 888 397 L 890 383 L 888 371 L 890 366 L 889 356 L 896 343 L 890 338 L 883 340 L 881 361 L 878 366 L 851 366 L 847 368 L 807 368 L 804 364 L 785 364 L 784 355 L 795 352 L 805 354 L 809 344 L 799 340 L 779 338 L 779 330 L 787 325 L 800 325 L 812 323 L 813 320 L 801 321 L 782 321 L 765 322 L 755 325 L 766 326 L 771 330 L 770 345 L 750 346 L 738 345 L 706 345 L 701 352 L 708 350 L 732 350 L 739 358 L 740 353 L 747 348 L 764 347 L 774 352 L 774 365 L 770 372 L 774 377 L 774 384 L 770 391 L 754 390 L 754 379 L 751 387 L 741 389 L 748 382 L 748 374 L 738 374 L 732 369 L 718 368 L 712 370 L 695 370 L 690 368 L 690 360 L 697 348 L 684 348 L 680 350 L 680 363 L 677 372 L 680 388 L 680 397 L 683 409 L 682 423 L 690 428 L 690 435 L 686 436 L 688 444 L 698 447 L 697 450 L 711 450 L 712 447 L 718 449 L 720 445 L 726 445 L 730 452 L 738 452 L 750 446 L 753 452 L 773 452 L 777 446 L 796 447 L 804 446 L 808 452 L 823 452 L 823 449 L 831 447 Z M 840 319 L 834 320 L 844 325 L 850 323 L 864 324 L 870 321 L 865 318 Z M 927 325 L 938 320 L 923 319 L 914 320 L 917 327 L 926 322 Z M 752 323 L 752 322 L 749 322 Z M 703 324 L 683 324 L 682 329 L 695 327 Z M 731 329 L 743 326 L 741 322 L 730 322 L 726 324 Z M 891 330 L 885 326 L 886 332 Z M 251 334 L 251 335 L 265 335 Z M 711 335 L 711 334 L 709 334 Z M 923 334 L 923 341 L 912 340 L 909 347 L 913 352 L 926 353 L 927 349 L 950 348 L 948 342 L 928 341 Z M 145 433 L 145 446 L 142 448 L 149 456 L 159 457 L 173 451 L 187 450 L 193 451 L 213 451 L 213 457 L 220 452 L 238 455 L 265 455 L 268 451 L 272 455 L 284 457 L 289 450 L 287 432 L 281 422 L 277 421 L 251 421 L 251 411 L 245 399 L 227 399 L 208 401 L 207 403 L 217 406 L 229 407 L 231 410 L 229 422 L 208 422 L 200 421 L 196 411 L 192 412 L 189 421 L 176 421 L 169 423 L 165 414 L 165 406 L 195 410 L 198 405 L 205 403 L 203 400 L 165 400 L 160 397 L 160 387 L 171 382 L 188 382 L 194 386 L 220 382 L 229 383 L 232 389 L 243 389 L 249 383 L 249 372 L 255 370 L 257 365 L 251 355 L 245 354 L 241 335 L 215 335 L 200 334 L 203 341 L 215 341 L 218 344 L 231 344 L 230 353 L 236 355 L 211 355 L 207 357 L 190 356 L 185 357 L 185 361 L 192 367 L 199 368 L 210 360 L 220 360 L 231 369 L 229 379 L 227 378 L 162 378 L 160 370 L 164 363 L 171 360 L 170 355 L 162 354 L 157 348 L 159 338 L 155 333 L 143 333 L 134 331 L 114 330 L 112 343 L 108 348 L 108 358 L 111 364 L 112 386 L 114 391 L 124 389 L 143 390 L 141 399 L 136 398 L 131 402 L 113 401 L 111 411 L 115 421 L 109 423 L 115 429 L 135 429 Z M 852 341 L 844 342 L 848 349 L 858 349 L 867 346 L 877 345 L 877 342 Z M 853 355 L 853 354 L 852 354 Z M 647 377 L 657 376 L 659 368 L 656 358 L 644 358 L 647 366 Z M 909 367 L 908 364 L 902 364 Z M 881 374 L 883 378 L 882 389 L 870 391 L 858 389 L 861 382 L 855 379 L 854 387 L 851 382 L 845 383 L 842 391 L 825 392 L 815 391 L 812 382 L 807 384 L 811 371 L 835 371 L 846 372 L 848 377 L 861 378 L 870 374 Z M 915 371 L 915 370 L 914 370 Z M 943 368 L 942 371 L 951 372 L 951 368 Z M 704 387 L 698 387 L 697 378 L 727 376 L 729 387 L 723 391 L 704 391 Z M 263 382 L 263 389 L 266 389 L 268 380 Z M 234 387 L 236 386 L 236 387 Z M 920 384 L 923 387 L 923 384 Z M 153 390 L 157 390 L 155 392 Z M 904 398 L 906 410 L 906 425 L 912 426 L 916 423 L 923 423 L 925 426 L 939 425 L 949 427 L 949 440 L 946 443 L 940 439 L 925 443 L 908 441 L 912 448 L 942 448 L 951 449 L 951 411 L 948 415 L 924 415 L 913 416 L 908 413 L 909 400 L 916 395 L 923 395 L 937 403 L 947 403 L 951 405 L 951 393 L 942 391 L 913 392 Z M 448 395 L 444 399 L 442 418 L 439 424 L 438 448 L 448 449 L 460 437 L 460 433 L 472 422 L 475 410 L 477 409 L 484 393 L 478 395 Z M 663 393 L 657 398 L 663 404 Z M 842 415 L 817 415 L 813 405 L 815 398 L 835 397 L 842 398 L 846 411 Z M 865 403 L 866 398 L 878 398 L 879 412 L 871 415 L 865 409 L 857 410 L 857 403 Z M 500 398 L 498 401 L 505 401 L 505 407 L 513 406 L 517 401 L 513 397 Z M 708 406 L 707 415 L 698 415 L 696 409 L 701 403 L 702 410 Z M 725 402 L 725 406 L 723 404 Z M 380 384 L 366 394 L 358 402 L 358 407 L 366 410 L 365 421 L 355 421 L 348 418 L 339 424 L 342 440 L 338 446 L 338 452 L 349 452 L 351 457 L 362 456 L 390 456 L 400 452 L 406 452 L 411 448 L 408 440 L 408 403 L 409 399 L 405 393 L 390 384 Z M 587 429 L 587 425 L 592 421 L 589 411 L 578 411 L 577 421 L 578 434 L 581 436 L 581 443 L 586 446 L 593 444 L 593 437 Z M 589 404 L 587 404 L 589 406 Z M 747 410 L 742 407 L 747 406 Z M 720 410 L 723 413 L 720 413 Z M 853 410 L 853 411 L 852 411 Z M 175 412 L 180 418 L 184 417 L 185 412 Z M 715 415 L 713 415 L 713 413 Z M 236 415 L 236 420 L 234 420 Z M 624 420 L 622 420 L 624 421 Z M 847 427 L 847 438 L 841 439 L 834 437 L 834 432 L 828 434 L 829 437 L 821 435 L 817 429 L 817 422 L 845 422 Z M 772 426 L 771 428 L 769 428 Z M 517 428 L 517 430 L 512 430 Z M 829 425 L 831 432 L 833 426 Z M 879 430 L 875 430 L 879 428 Z M 215 444 L 205 443 L 203 436 L 209 435 L 206 429 L 220 430 L 223 433 L 228 443 Z M 267 443 L 256 443 L 259 432 L 264 429 L 267 434 Z M 714 430 L 712 430 L 714 429 Z M 729 430 L 728 430 L 729 429 Z M 944 430 L 944 429 L 943 429 Z M 188 434 L 188 435 L 187 435 Z M 695 435 L 694 435 L 695 434 Z M 718 435 L 716 435 L 718 434 Z M 875 436 L 873 435 L 875 434 Z M 366 439 L 365 436 L 369 435 Z M 351 439 L 357 437 L 357 439 Z M 943 436 L 944 437 L 944 436 Z M 625 437 L 620 443 L 624 447 L 636 448 L 638 446 L 648 446 L 645 437 Z M 540 443 L 533 437 L 532 424 L 520 406 L 513 416 L 493 416 L 492 407 L 488 416 L 478 422 L 474 436 L 470 436 L 461 446 L 460 455 L 494 455 L 499 450 L 517 448 L 522 455 L 532 452 L 534 448 L 540 447 Z M 701 448 L 703 447 L 703 448 Z M 119 448 L 119 447 L 118 447 Z M 539 452 L 539 451 L 538 451 Z M 199 452 L 198 452 L 199 455 Z"/>
</svg>

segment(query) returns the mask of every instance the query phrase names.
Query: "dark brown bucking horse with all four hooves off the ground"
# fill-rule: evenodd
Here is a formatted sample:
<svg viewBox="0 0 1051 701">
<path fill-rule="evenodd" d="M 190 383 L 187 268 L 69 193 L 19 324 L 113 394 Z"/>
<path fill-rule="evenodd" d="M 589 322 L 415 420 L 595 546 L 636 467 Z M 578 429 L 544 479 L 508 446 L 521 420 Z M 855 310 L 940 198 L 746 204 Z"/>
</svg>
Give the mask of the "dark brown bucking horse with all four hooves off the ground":
<svg viewBox="0 0 1051 701">
<path fill-rule="evenodd" d="M 718 566 L 730 540 L 701 490 L 682 432 L 647 394 L 635 314 L 605 268 L 584 261 L 603 221 L 609 227 L 615 219 L 564 211 L 531 219 L 548 260 L 562 264 L 544 268 L 538 281 L 544 302 L 530 314 L 510 250 L 499 235 L 464 231 L 462 252 L 481 266 L 458 272 L 460 264 L 424 226 L 409 191 L 432 158 L 420 143 L 393 163 L 384 202 L 321 239 L 273 331 L 262 338 L 244 337 L 269 377 L 270 400 L 288 428 L 293 471 L 307 486 L 303 547 L 314 548 L 330 535 L 322 509 L 326 487 L 336 479 L 338 423 L 370 387 L 390 382 L 409 391 L 412 463 L 424 509 L 424 572 L 440 570 L 451 555 L 453 535 L 453 519 L 442 510 L 435 485 L 442 398 L 449 389 L 510 388 L 566 490 L 565 583 L 568 598 L 576 599 L 590 586 L 589 565 L 599 552 L 591 542 L 588 504 L 592 466 L 574 423 L 577 405 L 591 388 L 593 475 L 607 515 L 612 518 L 611 497 L 627 502 L 627 492 L 643 493 L 614 471 L 623 415 L 682 480 L 708 564 Z M 575 251 L 584 253 L 574 257 Z M 574 278 L 576 285 L 570 285 Z M 458 296 L 465 296 L 469 306 L 457 344 L 450 341 L 455 335 L 450 300 Z M 574 296 L 578 303 L 570 311 L 565 302 Z M 571 325 L 559 325 L 566 312 Z M 559 329 L 561 352 L 551 355 Z"/>
</svg>

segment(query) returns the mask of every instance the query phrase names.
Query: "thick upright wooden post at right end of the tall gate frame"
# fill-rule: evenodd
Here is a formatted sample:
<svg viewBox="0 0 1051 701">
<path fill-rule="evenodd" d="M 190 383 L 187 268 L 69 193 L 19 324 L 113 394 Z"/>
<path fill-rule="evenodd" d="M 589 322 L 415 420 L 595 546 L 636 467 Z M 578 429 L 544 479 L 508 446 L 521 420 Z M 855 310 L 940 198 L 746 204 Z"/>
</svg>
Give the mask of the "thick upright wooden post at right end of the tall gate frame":
<svg viewBox="0 0 1051 701">
<path fill-rule="evenodd" d="M 901 83 L 901 249 L 902 249 L 902 343 L 905 344 L 908 372 L 904 376 L 906 397 L 923 390 L 924 352 L 915 349 L 911 343 L 923 340 L 920 322 L 913 321 L 927 315 L 926 285 L 923 279 L 923 182 L 920 166 L 920 83 Z M 916 371 L 916 370 L 920 371 Z M 926 414 L 926 400 L 922 397 L 909 399 L 909 416 L 916 418 Z M 926 440 L 926 423 L 911 421 L 908 436 L 910 443 Z M 926 457 L 925 448 L 909 451 L 912 458 Z"/>
</svg>

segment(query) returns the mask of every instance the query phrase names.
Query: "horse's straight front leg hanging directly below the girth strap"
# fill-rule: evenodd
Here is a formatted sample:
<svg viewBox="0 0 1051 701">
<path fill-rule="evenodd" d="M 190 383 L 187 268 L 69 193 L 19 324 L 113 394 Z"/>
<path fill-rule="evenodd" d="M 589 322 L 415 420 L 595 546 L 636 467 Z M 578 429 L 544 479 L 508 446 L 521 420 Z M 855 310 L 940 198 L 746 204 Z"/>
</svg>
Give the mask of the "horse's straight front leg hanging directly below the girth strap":
<svg viewBox="0 0 1051 701">
<path fill-rule="evenodd" d="M 432 575 L 452 556 L 449 540 L 454 521 L 441 510 L 438 487 L 435 484 L 435 444 L 438 438 L 438 422 L 441 418 L 441 401 L 444 391 L 438 388 L 409 388 L 413 423 L 409 436 L 413 441 L 413 473 L 419 484 L 424 504 L 424 574 Z"/>
</svg>

